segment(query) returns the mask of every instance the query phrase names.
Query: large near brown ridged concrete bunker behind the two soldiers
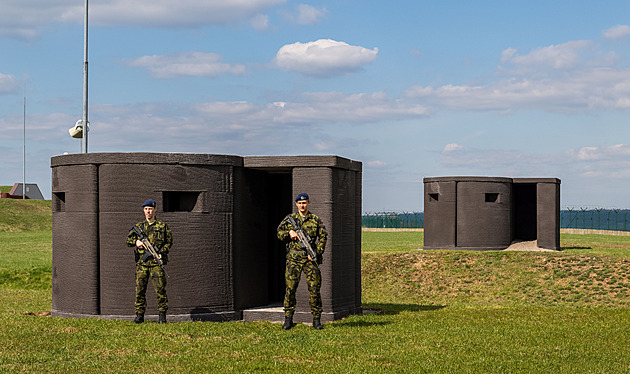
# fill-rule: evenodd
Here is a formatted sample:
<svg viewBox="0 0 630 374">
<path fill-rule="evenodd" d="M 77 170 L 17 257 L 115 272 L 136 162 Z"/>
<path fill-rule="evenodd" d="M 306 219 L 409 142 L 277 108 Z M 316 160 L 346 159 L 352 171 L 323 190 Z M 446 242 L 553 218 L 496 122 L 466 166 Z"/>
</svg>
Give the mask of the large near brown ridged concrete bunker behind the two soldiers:
<svg viewBox="0 0 630 374">
<path fill-rule="evenodd" d="M 51 159 L 52 315 L 132 320 L 135 262 L 126 246 L 157 201 L 174 238 L 168 320 L 282 321 L 284 244 L 280 221 L 300 192 L 329 233 L 322 321 L 362 312 L 362 164 L 339 156 L 84 153 Z M 147 320 L 157 320 L 152 286 Z M 296 322 L 310 322 L 304 279 Z"/>
</svg>

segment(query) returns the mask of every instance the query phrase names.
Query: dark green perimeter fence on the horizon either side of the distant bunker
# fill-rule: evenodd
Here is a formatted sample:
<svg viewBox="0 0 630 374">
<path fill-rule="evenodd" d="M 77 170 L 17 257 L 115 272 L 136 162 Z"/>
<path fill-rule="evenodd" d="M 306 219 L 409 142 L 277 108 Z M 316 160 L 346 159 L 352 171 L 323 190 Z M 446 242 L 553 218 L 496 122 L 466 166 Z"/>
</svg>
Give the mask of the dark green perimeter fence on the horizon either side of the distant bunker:
<svg viewBox="0 0 630 374">
<path fill-rule="evenodd" d="M 422 229 L 424 212 L 364 213 L 361 226 L 370 229 Z M 560 211 L 560 228 L 630 231 L 630 209 L 567 207 Z"/>
</svg>

